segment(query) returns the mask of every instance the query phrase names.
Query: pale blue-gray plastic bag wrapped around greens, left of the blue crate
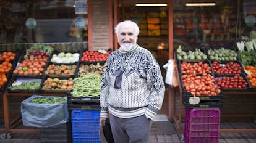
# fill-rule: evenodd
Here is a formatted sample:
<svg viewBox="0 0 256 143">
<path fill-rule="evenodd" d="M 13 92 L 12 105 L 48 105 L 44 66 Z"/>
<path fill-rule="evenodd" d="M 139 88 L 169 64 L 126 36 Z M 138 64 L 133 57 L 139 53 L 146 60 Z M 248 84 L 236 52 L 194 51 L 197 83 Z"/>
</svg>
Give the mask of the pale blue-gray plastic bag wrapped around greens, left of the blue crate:
<svg viewBox="0 0 256 143">
<path fill-rule="evenodd" d="M 53 98 L 56 96 L 38 96 L 33 95 L 23 100 L 20 111 L 22 123 L 24 126 L 33 126 L 38 128 L 48 128 L 61 125 L 69 121 L 69 111 L 67 109 L 67 100 L 57 104 L 35 104 L 29 103 L 35 97 Z"/>
</svg>

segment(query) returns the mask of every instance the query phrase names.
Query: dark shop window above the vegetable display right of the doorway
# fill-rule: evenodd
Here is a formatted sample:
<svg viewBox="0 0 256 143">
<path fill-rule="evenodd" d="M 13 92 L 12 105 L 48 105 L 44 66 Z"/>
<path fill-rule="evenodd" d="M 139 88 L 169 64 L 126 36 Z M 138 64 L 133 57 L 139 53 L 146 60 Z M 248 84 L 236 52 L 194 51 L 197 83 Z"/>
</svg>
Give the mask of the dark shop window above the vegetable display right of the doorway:
<svg viewBox="0 0 256 143">
<path fill-rule="evenodd" d="M 192 4 L 195 2 L 190 1 Z M 252 8 L 256 6 L 255 1 L 213 3 L 215 6 L 186 6 L 185 2 L 174 2 L 174 39 L 192 48 L 228 47 L 237 40 L 252 40 L 250 33 L 256 29 L 256 11 Z"/>
</svg>

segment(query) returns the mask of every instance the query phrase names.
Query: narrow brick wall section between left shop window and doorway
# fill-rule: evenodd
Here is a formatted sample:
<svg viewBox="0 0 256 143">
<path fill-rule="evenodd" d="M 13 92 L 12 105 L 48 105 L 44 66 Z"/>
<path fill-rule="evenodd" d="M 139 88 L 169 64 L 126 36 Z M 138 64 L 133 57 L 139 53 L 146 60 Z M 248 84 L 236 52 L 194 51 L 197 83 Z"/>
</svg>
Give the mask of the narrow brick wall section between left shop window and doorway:
<svg viewBox="0 0 256 143">
<path fill-rule="evenodd" d="M 109 1 L 92 1 L 93 51 L 109 49 Z"/>
</svg>

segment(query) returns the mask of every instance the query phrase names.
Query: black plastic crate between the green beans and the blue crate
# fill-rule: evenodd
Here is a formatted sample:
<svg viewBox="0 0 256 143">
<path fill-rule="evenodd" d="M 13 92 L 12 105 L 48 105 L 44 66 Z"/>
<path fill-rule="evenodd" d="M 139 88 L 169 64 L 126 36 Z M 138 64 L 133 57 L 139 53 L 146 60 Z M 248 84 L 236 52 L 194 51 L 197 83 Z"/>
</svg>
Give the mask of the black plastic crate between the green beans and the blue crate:
<svg viewBox="0 0 256 143">
<path fill-rule="evenodd" d="M 69 110 L 100 110 L 99 97 L 74 97 L 70 92 L 67 93 L 67 108 Z"/>
</svg>

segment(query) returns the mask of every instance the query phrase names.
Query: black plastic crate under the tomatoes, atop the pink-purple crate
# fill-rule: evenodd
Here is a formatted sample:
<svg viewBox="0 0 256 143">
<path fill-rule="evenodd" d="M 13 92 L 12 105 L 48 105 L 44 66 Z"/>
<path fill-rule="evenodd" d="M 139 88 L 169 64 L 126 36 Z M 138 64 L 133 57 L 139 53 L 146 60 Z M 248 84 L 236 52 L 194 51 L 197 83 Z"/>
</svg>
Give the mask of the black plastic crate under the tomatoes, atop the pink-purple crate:
<svg viewBox="0 0 256 143">
<path fill-rule="evenodd" d="M 223 92 L 217 96 L 196 96 L 200 98 L 199 104 L 189 104 L 189 98 L 192 94 L 182 94 L 182 103 L 186 108 L 221 108 L 223 107 Z"/>
</svg>

